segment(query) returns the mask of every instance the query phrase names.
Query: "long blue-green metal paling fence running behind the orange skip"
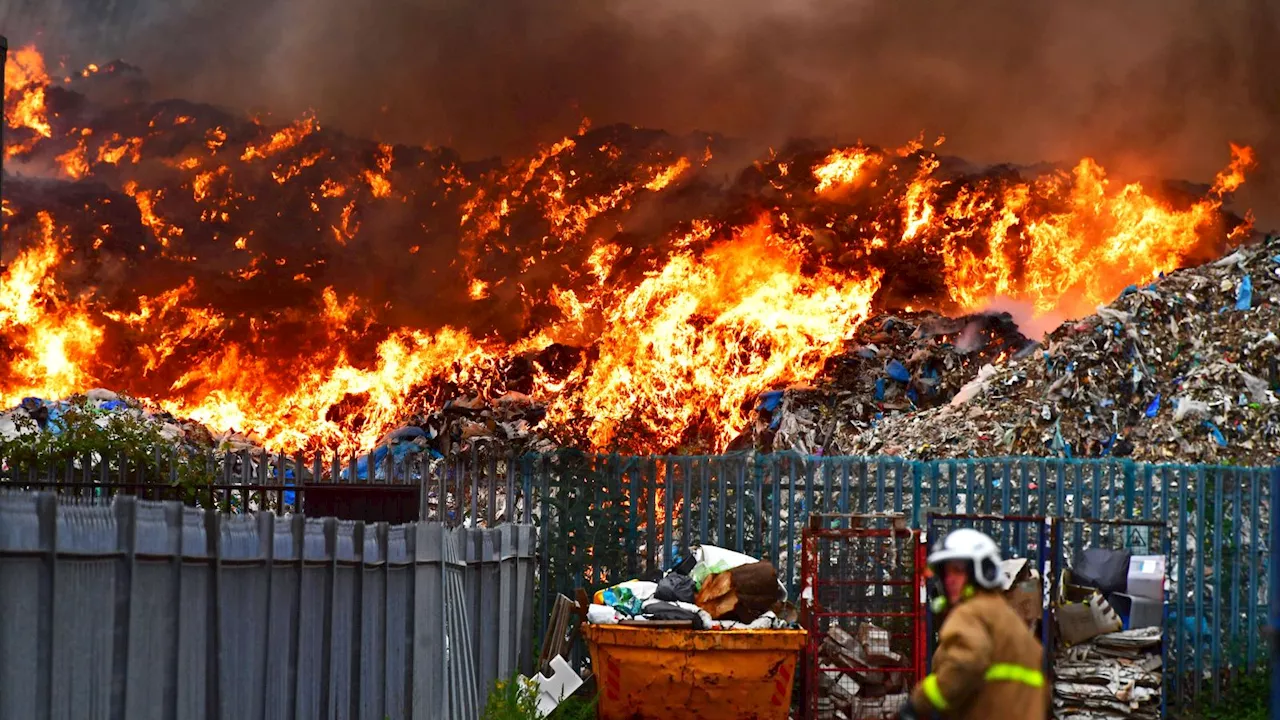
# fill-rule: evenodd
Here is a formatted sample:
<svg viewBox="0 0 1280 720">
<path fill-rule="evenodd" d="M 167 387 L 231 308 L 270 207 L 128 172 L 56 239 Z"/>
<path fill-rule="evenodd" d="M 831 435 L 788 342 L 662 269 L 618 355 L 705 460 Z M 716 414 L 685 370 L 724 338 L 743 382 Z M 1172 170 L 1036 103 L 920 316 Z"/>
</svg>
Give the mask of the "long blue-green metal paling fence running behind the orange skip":
<svg viewBox="0 0 1280 720">
<path fill-rule="evenodd" d="M 1266 657 L 1270 602 L 1270 469 L 1041 457 L 908 461 L 800 455 L 649 456 L 559 451 L 509 457 L 474 450 L 453 459 L 397 445 L 360 457 L 242 451 L 192 460 L 84 459 L 38 469 L 3 465 L 10 484 L 110 495 L 122 480 L 164 482 L 189 502 L 230 509 L 301 507 L 330 493 L 334 514 L 353 493 L 397 497 L 393 507 L 451 527 L 507 520 L 538 527 L 535 624 L 556 593 L 652 577 L 691 543 L 768 559 L 795 597 L 801 529 L 810 512 L 899 512 L 919 527 L 929 509 L 961 514 L 1052 515 L 1071 520 L 1071 551 L 1115 546 L 1115 520 L 1162 520 L 1169 550 L 1170 642 L 1180 688 L 1217 689 Z M 215 484 L 183 483 L 192 469 Z M 214 478 L 209 480 L 209 478 Z M 216 491 L 216 492 L 214 492 Z M 285 492 L 294 492 L 285 502 Z M 201 493 L 207 493 L 204 497 Z M 343 495 L 347 493 L 347 495 Z M 397 495 L 398 493 L 398 495 Z M 416 500 L 415 500 L 416 498 Z M 317 501 L 319 502 L 319 501 Z M 370 510 L 372 507 L 372 510 Z M 1011 551 L 1014 547 L 1006 547 Z M 1160 553 L 1156 548 L 1153 553 Z"/>
</svg>

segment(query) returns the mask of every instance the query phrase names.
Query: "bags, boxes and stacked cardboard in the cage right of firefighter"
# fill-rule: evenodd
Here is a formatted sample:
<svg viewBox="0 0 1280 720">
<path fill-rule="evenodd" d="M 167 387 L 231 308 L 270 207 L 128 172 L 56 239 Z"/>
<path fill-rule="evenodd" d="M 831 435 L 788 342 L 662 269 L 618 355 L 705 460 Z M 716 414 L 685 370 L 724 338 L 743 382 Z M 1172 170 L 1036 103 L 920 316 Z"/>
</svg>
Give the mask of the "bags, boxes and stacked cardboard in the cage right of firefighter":
<svg viewBox="0 0 1280 720">
<path fill-rule="evenodd" d="M 1089 548 L 1053 609 L 1053 716 L 1160 717 L 1165 557 Z"/>
</svg>

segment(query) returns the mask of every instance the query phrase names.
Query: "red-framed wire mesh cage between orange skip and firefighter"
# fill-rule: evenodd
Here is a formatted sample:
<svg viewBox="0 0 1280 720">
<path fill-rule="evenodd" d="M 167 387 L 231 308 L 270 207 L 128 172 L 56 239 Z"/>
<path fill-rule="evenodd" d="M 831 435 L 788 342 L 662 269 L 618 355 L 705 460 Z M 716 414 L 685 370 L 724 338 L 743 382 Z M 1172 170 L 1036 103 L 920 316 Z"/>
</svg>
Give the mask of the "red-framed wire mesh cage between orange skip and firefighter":
<svg viewBox="0 0 1280 720">
<path fill-rule="evenodd" d="M 920 532 L 902 515 L 814 514 L 803 547 L 805 717 L 895 717 L 924 662 Z"/>
</svg>

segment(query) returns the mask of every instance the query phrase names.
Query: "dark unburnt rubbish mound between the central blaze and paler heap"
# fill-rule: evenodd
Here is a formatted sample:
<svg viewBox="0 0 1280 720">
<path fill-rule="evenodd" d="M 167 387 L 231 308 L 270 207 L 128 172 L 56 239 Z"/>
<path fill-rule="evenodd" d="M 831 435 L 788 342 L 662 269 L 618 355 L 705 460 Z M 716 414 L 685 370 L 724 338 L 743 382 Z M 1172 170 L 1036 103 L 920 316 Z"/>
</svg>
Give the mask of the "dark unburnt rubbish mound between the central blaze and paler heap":
<svg viewBox="0 0 1280 720">
<path fill-rule="evenodd" d="M 762 393 L 754 425 L 730 450 L 838 454 L 838 438 L 886 416 L 943 405 L 984 365 L 1036 347 L 1007 313 L 870 318 L 812 387 Z"/>
</svg>

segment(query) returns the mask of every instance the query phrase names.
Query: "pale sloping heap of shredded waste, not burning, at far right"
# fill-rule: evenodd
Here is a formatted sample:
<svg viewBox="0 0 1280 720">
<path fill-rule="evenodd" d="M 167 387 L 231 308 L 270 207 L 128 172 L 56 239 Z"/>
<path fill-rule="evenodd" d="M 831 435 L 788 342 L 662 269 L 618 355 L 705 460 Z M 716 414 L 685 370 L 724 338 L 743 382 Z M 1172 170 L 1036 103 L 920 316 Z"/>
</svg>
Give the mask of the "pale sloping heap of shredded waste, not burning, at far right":
<svg viewBox="0 0 1280 720">
<path fill-rule="evenodd" d="M 858 455 L 1267 465 L 1280 454 L 1280 236 L 1126 288 L 948 404 L 838 428 Z"/>
</svg>

